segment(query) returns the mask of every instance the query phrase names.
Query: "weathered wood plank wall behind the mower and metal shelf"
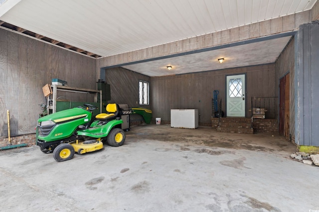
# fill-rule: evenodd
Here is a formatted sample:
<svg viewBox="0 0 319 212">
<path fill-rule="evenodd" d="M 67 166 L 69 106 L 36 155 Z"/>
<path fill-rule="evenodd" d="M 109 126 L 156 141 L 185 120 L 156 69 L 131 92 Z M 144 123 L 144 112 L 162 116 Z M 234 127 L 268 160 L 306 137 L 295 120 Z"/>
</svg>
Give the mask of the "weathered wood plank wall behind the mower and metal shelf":
<svg viewBox="0 0 319 212">
<path fill-rule="evenodd" d="M 35 133 L 42 87 L 52 78 L 70 87 L 96 89 L 96 59 L 0 28 L 0 137 Z M 59 92 L 71 101 L 93 101 L 90 94 Z"/>
</svg>

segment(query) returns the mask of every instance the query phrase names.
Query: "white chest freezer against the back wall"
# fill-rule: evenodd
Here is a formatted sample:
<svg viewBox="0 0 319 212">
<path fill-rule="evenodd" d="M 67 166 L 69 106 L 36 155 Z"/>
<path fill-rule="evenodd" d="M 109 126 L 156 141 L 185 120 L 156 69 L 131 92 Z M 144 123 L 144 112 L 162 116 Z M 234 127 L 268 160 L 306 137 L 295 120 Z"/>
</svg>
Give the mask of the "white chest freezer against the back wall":
<svg viewBox="0 0 319 212">
<path fill-rule="evenodd" d="M 198 109 L 171 109 L 170 127 L 198 128 Z"/>
</svg>

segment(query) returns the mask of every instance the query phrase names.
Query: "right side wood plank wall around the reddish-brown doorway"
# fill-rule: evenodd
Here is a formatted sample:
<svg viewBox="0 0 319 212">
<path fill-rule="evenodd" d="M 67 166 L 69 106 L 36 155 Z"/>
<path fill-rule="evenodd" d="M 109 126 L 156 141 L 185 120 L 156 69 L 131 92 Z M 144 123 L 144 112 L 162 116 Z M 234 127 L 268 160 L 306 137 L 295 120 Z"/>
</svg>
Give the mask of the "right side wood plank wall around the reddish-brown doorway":
<svg viewBox="0 0 319 212">
<path fill-rule="evenodd" d="M 275 93 L 279 95 L 279 80 L 290 73 L 290 135 L 295 136 L 295 38 L 287 45 L 275 63 Z M 287 138 L 289 139 L 289 138 Z"/>
</svg>

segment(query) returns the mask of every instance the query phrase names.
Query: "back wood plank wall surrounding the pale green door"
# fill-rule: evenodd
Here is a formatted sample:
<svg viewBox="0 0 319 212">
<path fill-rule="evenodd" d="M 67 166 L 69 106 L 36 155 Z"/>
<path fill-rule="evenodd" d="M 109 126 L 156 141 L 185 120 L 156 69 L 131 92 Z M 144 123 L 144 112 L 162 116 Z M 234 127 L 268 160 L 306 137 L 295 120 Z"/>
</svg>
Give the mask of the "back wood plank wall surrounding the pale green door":
<svg viewBox="0 0 319 212">
<path fill-rule="evenodd" d="M 274 64 L 151 77 L 153 119 L 170 121 L 170 109 L 198 109 L 199 123 L 210 123 L 213 91 L 219 90 L 218 99 L 225 112 L 226 75 L 240 73 L 247 74 L 246 117 L 250 117 L 252 96 L 275 96 Z"/>
</svg>

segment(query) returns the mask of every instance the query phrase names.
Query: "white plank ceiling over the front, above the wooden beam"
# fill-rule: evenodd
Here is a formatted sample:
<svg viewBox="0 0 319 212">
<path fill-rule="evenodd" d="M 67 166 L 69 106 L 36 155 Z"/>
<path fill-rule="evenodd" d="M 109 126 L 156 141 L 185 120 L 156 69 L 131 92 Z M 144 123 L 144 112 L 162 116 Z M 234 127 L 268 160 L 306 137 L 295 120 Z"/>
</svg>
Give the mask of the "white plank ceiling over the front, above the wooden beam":
<svg viewBox="0 0 319 212">
<path fill-rule="evenodd" d="M 111 56 L 311 9 L 316 0 L 14 2 L 0 20 L 97 55 Z"/>
</svg>

